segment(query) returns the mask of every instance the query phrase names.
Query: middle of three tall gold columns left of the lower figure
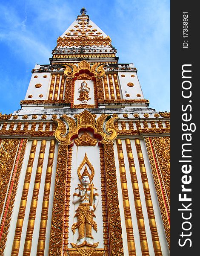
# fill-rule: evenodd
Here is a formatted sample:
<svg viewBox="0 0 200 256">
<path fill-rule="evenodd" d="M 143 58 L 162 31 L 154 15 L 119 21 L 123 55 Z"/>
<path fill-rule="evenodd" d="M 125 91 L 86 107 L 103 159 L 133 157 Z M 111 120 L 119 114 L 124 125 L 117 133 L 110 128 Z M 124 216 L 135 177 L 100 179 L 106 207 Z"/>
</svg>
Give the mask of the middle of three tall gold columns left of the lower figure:
<svg viewBox="0 0 200 256">
<path fill-rule="evenodd" d="M 40 145 L 40 153 L 38 157 L 37 170 L 35 175 L 35 183 L 34 183 L 33 195 L 31 200 L 31 208 L 29 212 L 29 221 L 28 221 L 28 226 L 26 231 L 26 239 L 24 244 L 23 256 L 29 256 L 31 254 L 32 237 L 33 237 L 33 230 L 34 230 L 36 210 L 37 210 L 37 200 L 38 200 L 41 176 L 43 171 L 45 148 L 46 148 L 46 140 L 42 140 Z"/>
</svg>

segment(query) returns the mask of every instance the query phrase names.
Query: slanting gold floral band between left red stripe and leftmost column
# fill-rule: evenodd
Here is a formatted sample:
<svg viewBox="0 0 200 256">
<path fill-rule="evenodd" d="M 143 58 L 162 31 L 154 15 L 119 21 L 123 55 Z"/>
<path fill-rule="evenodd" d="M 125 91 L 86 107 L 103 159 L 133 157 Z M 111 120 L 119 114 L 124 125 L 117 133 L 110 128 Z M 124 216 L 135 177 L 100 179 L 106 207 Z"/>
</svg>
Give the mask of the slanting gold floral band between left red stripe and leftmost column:
<svg viewBox="0 0 200 256">
<path fill-rule="evenodd" d="M 11 214 L 14 206 L 15 196 L 17 193 L 17 185 L 20 178 L 20 172 L 21 172 L 24 153 L 26 149 L 26 143 L 27 143 L 26 139 L 20 140 L 17 157 L 14 163 L 14 172 L 11 176 L 11 183 L 9 185 L 9 190 L 7 193 L 7 198 L 5 203 L 5 206 L 7 207 L 4 208 L 3 215 L 2 215 L 2 222 L 0 224 L 0 230 L 3 230 L 2 236 L 0 238 L 0 255 L 1 256 L 3 256 L 3 251 L 6 246 L 6 239 L 8 235 L 9 226 L 10 226 Z"/>
</svg>

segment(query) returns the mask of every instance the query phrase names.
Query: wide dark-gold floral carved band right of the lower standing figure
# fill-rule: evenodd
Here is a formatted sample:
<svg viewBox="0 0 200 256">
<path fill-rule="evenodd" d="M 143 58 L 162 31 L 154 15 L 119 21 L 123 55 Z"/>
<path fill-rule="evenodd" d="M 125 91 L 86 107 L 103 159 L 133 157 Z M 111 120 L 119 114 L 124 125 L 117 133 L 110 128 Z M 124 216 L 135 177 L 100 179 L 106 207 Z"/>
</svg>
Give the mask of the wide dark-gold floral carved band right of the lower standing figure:
<svg viewBox="0 0 200 256">
<path fill-rule="evenodd" d="M 117 191 L 117 177 L 112 143 L 104 144 L 104 160 L 106 171 L 106 190 L 109 220 L 109 249 L 111 255 L 123 256 L 120 209 Z"/>
</svg>

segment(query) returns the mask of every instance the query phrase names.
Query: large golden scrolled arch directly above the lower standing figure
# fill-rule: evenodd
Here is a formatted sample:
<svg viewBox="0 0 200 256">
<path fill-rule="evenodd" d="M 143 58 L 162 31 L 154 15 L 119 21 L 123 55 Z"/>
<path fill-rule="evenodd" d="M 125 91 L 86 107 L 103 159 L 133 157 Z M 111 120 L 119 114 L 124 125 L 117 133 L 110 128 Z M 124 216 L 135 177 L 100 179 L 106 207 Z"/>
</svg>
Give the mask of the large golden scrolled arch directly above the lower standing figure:
<svg viewBox="0 0 200 256">
<path fill-rule="evenodd" d="M 85 110 L 74 115 L 74 118 L 77 119 L 77 122 L 65 114 L 60 119 L 53 119 L 57 123 L 55 137 L 60 143 L 72 146 L 72 140 L 78 137 L 78 133 L 87 130 L 100 140 L 100 144 L 111 143 L 117 137 L 117 130 L 114 127 L 114 122 L 118 119 L 117 114 L 112 116 L 102 114 L 95 120 L 96 115 Z"/>
</svg>

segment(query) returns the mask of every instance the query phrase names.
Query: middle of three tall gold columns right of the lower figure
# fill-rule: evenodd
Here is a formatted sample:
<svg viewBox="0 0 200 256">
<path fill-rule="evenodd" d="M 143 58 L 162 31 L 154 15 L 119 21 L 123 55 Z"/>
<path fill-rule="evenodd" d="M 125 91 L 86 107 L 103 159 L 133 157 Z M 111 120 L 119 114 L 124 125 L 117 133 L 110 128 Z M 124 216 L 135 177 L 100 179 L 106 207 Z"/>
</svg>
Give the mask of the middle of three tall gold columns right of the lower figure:
<svg viewBox="0 0 200 256">
<path fill-rule="evenodd" d="M 138 230 L 139 230 L 139 234 L 140 234 L 140 247 L 141 247 L 142 255 L 149 256 L 149 247 L 148 247 L 147 238 L 146 238 L 143 209 L 142 209 L 142 204 L 140 201 L 140 192 L 139 192 L 139 187 L 138 187 L 133 152 L 132 152 L 132 148 L 131 148 L 131 141 L 129 139 L 126 139 L 125 142 L 126 142 L 127 156 L 128 156 L 128 160 L 129 160 L 129 171 L 130 171 L 130 175 L 131 175 L 131 183 L 132 183 L 133 194 L 134 194 L 134 204 L 135 204 L 136 217 L 137 217 L 137 226 L 138 226 Z"/>
</svg>

